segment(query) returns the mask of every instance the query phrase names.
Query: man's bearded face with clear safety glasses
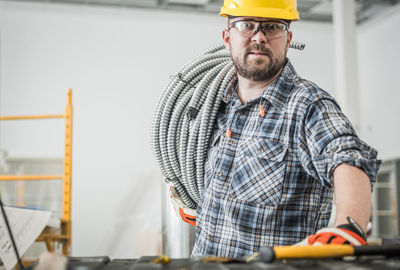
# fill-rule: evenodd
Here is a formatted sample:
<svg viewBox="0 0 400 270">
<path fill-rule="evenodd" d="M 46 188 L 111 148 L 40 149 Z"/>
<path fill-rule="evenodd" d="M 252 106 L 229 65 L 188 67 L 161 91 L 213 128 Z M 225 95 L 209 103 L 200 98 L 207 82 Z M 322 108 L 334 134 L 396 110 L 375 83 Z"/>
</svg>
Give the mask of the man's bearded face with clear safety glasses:
<svg viewBox="0 0 400 270">
<path fill-rule="evenodd" d="M 241 26 L 248 20 L 255 29 L 246 33 Z M 260 29 L 259 21 L 276 22 L 278 27 L 282 26 L 280 23 L 287 25 L 286 22 L 276 19 L 238 17 L 229 20 L 229 29 L 223 32 L 225 47 L 231 53 L 236 71 L 240 76 L 252 81 L 269 80 L 281 70 L 285 65 L 286 53 L 292 38 L 292 33 L 288 30 L 281 31 L 278 35 L 271 35 L 271 30 L 265 27 Z M 254 32 L 256 33 L 253 34 Z"/>
</svg>

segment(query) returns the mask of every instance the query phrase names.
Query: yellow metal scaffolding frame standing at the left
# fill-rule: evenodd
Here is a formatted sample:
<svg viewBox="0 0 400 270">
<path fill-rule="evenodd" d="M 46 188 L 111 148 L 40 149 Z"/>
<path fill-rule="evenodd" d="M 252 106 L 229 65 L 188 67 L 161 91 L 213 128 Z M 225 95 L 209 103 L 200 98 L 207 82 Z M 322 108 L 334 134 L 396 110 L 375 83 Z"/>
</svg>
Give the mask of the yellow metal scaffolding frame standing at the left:
<svg viewBox="0 0 400 270">
<path fill-rule="evenodd" d="M 43 241 L 49 251 L 55 250 L 55 244 L 62 245 L 62 253 L 69 255 L 71 246 L 71 165 L 72 165 L 72 90 L 68 89 L 67 106 L 64 115 L 30 115 L 30 116 L 2 116 L 0 120 L 27 120 L 27 119 L 65 119 L 65 150 L 64 175 L 0 175 L 0 181 L 17 180 L 63 180 L 63 214 L 61 229 L 56 231 L 46 228 L 36 241 Z"/>
</svg>

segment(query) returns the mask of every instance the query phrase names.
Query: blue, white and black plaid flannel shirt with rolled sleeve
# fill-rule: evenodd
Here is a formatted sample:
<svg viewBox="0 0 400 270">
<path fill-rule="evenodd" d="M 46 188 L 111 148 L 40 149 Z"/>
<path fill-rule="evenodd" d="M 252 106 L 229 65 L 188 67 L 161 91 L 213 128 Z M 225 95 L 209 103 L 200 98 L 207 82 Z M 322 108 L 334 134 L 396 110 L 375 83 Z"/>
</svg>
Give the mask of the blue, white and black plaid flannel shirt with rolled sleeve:
<svg viewBox="0 0 400 270">
<path fill-rule="evenodd" d="M 222 96 L 208 150 L 192 256 L 239 257 L 299 242 L 328 225 L 338 165 L 361 168 L 371 184 L 380 166 L 336 101 L 289 60 L 247 104 L 234 92 L 236 81 Z"/>
</svg>

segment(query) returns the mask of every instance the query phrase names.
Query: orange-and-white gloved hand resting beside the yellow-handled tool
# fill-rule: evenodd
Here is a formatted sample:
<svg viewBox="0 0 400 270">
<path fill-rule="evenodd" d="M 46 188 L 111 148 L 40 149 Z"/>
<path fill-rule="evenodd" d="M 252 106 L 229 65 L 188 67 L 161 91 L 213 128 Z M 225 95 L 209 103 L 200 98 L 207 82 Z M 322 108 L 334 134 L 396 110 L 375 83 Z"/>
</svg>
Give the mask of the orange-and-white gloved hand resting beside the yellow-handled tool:
<svg viewBox="0 0 400 270">
<path fill-rule="evenodd" d="M 349 224 L 339 225 L 336 228 L 323 228 L 297 243 L 296 246 L 325 244 L 365 246 L 367 238 L 364 231 L 352 218 L 347 217 L 347 220 Z"/>
</svg>

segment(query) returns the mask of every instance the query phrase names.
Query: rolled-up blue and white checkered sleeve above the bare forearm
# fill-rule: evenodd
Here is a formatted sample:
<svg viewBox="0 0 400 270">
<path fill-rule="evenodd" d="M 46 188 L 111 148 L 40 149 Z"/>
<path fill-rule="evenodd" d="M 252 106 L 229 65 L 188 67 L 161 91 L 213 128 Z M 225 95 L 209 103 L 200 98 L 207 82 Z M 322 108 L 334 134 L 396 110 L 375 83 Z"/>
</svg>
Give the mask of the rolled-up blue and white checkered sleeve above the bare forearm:
<svg viewBox="0 0 400 270">
<path fill-rule="evenodd" d="M 300 162 L 312 177 L 331 185 L 334 169 L 346 163 L 362 169 L 371 184 L 376 181 L 377 151 L 358 138 L 334 100 L 312 103 L 298 132 Z"/>
</svg>

